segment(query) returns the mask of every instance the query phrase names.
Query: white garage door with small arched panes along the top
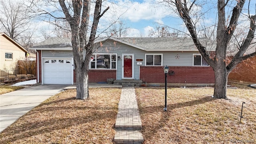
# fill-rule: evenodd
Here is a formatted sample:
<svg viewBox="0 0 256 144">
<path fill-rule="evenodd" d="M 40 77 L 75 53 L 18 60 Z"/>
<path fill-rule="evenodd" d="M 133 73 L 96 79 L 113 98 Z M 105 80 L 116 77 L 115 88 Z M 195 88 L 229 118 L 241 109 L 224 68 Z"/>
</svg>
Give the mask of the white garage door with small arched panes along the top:
<svg viewBox="0 0 256 144">
<path fill-rule="evenodd" d="M 73 66 L 70 58 L 44 58 L 43 83 L 44 84 L 72 84 Z"/>
</svg>

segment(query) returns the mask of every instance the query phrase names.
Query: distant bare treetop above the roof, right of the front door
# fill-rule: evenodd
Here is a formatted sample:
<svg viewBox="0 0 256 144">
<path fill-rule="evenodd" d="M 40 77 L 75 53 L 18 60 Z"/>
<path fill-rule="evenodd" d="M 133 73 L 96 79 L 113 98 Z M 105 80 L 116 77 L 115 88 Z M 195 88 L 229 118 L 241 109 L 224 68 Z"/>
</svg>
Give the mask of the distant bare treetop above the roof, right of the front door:
<svg viewBox="0 0 256 144">
<path fill-rule="evenodd" d="M 178 32 L 170 32 L 170 28 L 168 26 L 156 26 L 155 30 L 153 28 L 149 30 L 148 36 L 155 38 L 176 38 L 178 37 Z"/>
</svg>

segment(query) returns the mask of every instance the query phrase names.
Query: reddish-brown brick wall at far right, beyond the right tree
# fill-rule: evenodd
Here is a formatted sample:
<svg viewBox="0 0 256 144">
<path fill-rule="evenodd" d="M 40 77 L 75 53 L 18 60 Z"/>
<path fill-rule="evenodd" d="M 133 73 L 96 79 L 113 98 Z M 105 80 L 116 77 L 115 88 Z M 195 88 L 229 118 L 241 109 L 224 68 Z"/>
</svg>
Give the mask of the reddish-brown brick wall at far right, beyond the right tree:
<svg viewBox="0 0 256 144">
<path fill-rule="evenodd" d="M 238 64 L 230 72 L 228 79 L 256 83 L 256 56 Z"/>
</svg>

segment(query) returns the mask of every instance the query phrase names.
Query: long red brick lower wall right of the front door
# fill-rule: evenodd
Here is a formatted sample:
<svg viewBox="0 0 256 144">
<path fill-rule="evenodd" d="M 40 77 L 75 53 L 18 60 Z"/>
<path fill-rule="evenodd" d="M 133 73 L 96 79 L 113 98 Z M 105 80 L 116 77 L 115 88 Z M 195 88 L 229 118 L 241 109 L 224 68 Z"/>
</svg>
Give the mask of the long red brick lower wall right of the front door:
<svg viewBox="0 0 256 144">
<path fill-rule="evenodd" d="M 140 66 L 140 79 L 149 83 L 164 83 L 163 66 Z M 210 66 L 169 66 L 167 83 L 191 83 L 191 84 L 213 84 L 215 82 L 214 71 Z"/>
</svg>

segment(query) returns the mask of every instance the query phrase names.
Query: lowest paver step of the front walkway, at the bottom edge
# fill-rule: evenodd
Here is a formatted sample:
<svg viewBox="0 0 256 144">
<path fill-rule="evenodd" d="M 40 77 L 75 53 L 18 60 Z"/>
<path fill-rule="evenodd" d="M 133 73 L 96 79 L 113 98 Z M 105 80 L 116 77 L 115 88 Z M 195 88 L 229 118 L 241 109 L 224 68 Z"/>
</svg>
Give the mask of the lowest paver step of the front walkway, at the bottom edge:
<svg viewBox="0 0 256 144">
<path fill-rule="evenodd" d="M 140 130 L 116 130 L 114 137 L 117 144 L 142 144 L 143 141 Z"/>
</svg>

